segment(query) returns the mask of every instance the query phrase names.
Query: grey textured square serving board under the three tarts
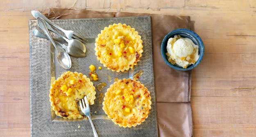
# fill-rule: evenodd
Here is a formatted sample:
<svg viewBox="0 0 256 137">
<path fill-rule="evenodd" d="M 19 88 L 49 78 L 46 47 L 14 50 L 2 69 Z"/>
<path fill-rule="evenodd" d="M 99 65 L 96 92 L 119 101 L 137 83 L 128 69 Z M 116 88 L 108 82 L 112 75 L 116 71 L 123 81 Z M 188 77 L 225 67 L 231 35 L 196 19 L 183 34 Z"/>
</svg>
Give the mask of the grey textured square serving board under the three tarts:
<svg viewBox="0 0 256 137">
<path fill-rule="evenodd" d="M 78 32 L 85 38 L 96 38 L 104 27 L 113 23 L 125 23 L 135 28 L 143 40 L 144 52 L 141 61 L 135 66 L 133 71 L 116 73 L 107 70 L 97 61 L 94 51 L 94 43 L 86 45 L 86 57 L 71 57 L 72 68 L 62 69 L 54 57 L 56 51 L 52 49 L 50 42 L 41 38 L 36 38 L 32 31 L 39 29 L 36 20 L 29 21 L 29 49 L 30 49 L 30 104 L 31 104 L 31 136 L 32 137 L 92 137 L 91 125 L 87 120 L 80 121 L 56 121 L 52 119 L 49 102 L 49 89 L 52 76 L 59 77 L 64 71 L 77 71 L 88 76 L 88 66 L 94 64 L 102 66 L 101 71 L 97 71 L 100 77 L 96 86 L 100 82 L 106 82 L 107 86 L 101 92 L 96 90 L 95 104 L 90 106 L 94 117 L 104 116 L 102 102 L 99 101 L 100 93 L 104 94 L 110 84 L 113 84 L 114 77 L 129 78 L 139 70 L 144 73 L 140 77 L 140 82 L 150 91 L 152 97 L 152 110 L 149 117 L 141 125 L 132 128 L 122 128 L 114 124 L 109 119 L 94 119 L 93 123 L 99 137 L 157 137 L 156 119 L 156 97 L 154 91 L 154 73 L 152 60 L 152 38 L 151 38 L 151 18 L 125 17 L 125 18 L 93 18 L 74 20 L 52 20 L 63 29 Z M 54 62 L 52 62 L 54 61 Z M 55 73 L 54 73 L 55 72 Z M 108 82 L 107 76 L 111 76 L 112 82 Z M 94 113 L 97 111 L 97 113 Z M 59 118 L 61 119 L 61 118 Z M 55 120 L 55 121 L 54 121 Z M 81 125 L 81 128 L 78 128 Z"/>
</svg>

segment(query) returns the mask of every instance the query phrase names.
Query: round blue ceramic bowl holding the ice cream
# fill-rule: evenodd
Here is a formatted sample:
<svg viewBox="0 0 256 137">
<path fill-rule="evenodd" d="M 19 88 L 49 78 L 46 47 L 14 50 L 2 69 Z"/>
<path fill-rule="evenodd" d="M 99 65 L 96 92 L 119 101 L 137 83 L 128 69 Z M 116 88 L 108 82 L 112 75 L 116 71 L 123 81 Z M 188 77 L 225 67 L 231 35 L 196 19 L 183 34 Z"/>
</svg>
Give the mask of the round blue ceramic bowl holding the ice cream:
<svg viewBox="0 0 256 137">
<path fill-rule="evenodd" d="M 196 45 L 198 45 L 199 59 L 197 60 L 197 62 L 195 62 L 195 64 L 191 64 L 186 69 L 184 69 L 180 66 L 171 64 L 170 62 L 168 62 L 167 55 L 165 55 L 165 53 L 167 53 L 167 49 L 166 49 L 167 42 L 168 42 L 169 38 L 174 38 L 174 35 L 180 35 L 182 38 L 189 38 Z M 165 64 L 170 66 L 172 69 L 176 69 L 176 70 L 179 70 L 179 71 L 189 71 L 191 69 L 194 69 L 201 62 L 201 60 L 203 59 L 204 43 L 203 43 L 202 39 L 199 37 L 199 35 L 197 35 L 197 33 L 195 33 L 194 31 L 191 31 L 189 29 L 175 29 L 172 32 L 168 33 L 164 37 L 163 42 L 161 44 L 161 54 L 162 54 L 162 57 L 163 57 L 163 60 L 164 60 Z"/>
</svg>

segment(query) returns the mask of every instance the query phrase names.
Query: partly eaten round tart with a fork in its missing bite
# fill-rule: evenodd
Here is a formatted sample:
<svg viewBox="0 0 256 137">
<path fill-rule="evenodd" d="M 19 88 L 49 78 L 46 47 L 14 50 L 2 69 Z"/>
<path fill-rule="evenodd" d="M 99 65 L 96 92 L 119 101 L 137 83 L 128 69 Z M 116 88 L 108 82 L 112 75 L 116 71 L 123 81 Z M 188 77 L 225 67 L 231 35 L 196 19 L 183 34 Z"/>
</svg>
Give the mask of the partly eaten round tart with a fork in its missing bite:
<svg viewBox="0 0 256 137">
<path fill-rule="evenodd" d="M 64 72 L 50 88 L 50 102 L 57 116 L 65 119 L 83 118 L 77 102 L 87 97 L 90 105 L 94 104 L 95 87 L 86 75 L 77 72 Z"/>
</svg>

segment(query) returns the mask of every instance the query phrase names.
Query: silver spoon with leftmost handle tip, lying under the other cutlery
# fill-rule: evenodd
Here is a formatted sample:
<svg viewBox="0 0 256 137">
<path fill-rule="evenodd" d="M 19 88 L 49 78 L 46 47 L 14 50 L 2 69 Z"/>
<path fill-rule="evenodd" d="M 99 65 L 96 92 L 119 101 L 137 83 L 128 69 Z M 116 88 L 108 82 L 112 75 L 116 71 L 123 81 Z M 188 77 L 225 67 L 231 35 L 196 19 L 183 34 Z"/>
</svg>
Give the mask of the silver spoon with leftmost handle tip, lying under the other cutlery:
<svg viewBox="0 0 256 137">
<path fill-rule="evenodd" d="M 39 38 L 43 38 L 43 39 L 48 39 L 48 37 L 41 33 L 40 31 L 38 31 L 37 29 L 33 29 L 33 34 L 36 36 L 36 37 L 39 37 Z M 75 46 L 71 46 L 70 48 L 67 48 L 67 46 L 63 43 L 64 40 L 63 39 L 53 39 L 54 42 L 56 43 L 57 46 L 61 46 L 61 48 L 65 49 L 66 52 L 73 56 L 73 57 L 85 57 L 85 53 L 84 51 L 82 51 L 81 49 L 78 49 L 77 47 Z M 65 41 L 66 42 L 66 41 Z"/>
</svg>

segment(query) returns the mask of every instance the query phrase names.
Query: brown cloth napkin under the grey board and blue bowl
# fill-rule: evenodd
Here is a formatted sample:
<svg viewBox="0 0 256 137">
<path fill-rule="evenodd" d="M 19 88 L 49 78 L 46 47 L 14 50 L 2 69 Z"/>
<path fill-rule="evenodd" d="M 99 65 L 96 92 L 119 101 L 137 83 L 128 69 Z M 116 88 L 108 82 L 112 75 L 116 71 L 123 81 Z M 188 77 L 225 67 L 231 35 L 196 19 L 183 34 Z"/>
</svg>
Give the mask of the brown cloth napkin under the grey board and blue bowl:
<svg viewBox="0 0 256 137">
<path fill-rule="evenodd" d="M 164 36 L 177 28 L 190 28 L 188 16 L 144 13 L 113 13 L 87 10 L 49 9 L 50 19 L 104 18 L 143 16 L 152 17 L 152 41 L 158 126 L 160 137 L 192 137 L 193 125 L 190 106 L 190 71 L 175 71 L 161 57 Z M 178 103 L 179 102 L 179 103 Z"/>
</svg>

